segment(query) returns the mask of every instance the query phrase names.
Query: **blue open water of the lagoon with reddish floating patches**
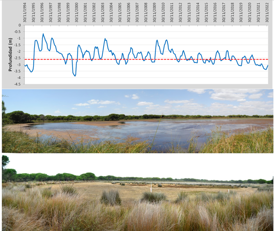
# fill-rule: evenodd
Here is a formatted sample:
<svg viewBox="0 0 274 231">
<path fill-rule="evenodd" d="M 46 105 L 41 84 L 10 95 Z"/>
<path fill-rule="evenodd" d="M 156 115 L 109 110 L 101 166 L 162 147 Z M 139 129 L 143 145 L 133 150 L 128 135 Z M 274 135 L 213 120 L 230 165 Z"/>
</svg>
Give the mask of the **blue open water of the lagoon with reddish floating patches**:
<svg viewBox="0 0 274 231">
<path fill-rule="evenodd" d="M 149 140 L 152 142 L 156 129 L 158 127 L 154 144 L 154 149 L 167 150 L 171 144 L 182 147 L 182 151 L 188 148 L 188 140 L 195 136 L 198 138 L 198 146 L 204 143 L 207 139 L 207 134 L 216 127 L 221 126 L 223 132 L 232 134 L 241 132 L 249 132 L 251 128 L 256 130 L 266 129 L 270 121 L 270 126 L 273 127 L 273 119 L 202 119 L 202 120 L 129 120 L 115 122 L 115 125 L 96 126 L 96 122 L 87 122 L 88 124 L 79 124 L 79 122 L 65 122 L 65 123 L 41 123 L 32 124 L 28 127 L 31 130 L 39 130 L 42 138 L 54 136 L 49 135 L 47 131 L 54 131 L 57 134 L 74 134 L 74 141 L 85 137 L 85 140 L 97 140 L 98 142 L 105 140 L 120 140 L 123 142 L 129 137 L 136 138 L 136 140 Z M 84 122 L 86 123 L 86 122 Z M 119 141 L 119 142 L 120 142 Z"/>
</svg>

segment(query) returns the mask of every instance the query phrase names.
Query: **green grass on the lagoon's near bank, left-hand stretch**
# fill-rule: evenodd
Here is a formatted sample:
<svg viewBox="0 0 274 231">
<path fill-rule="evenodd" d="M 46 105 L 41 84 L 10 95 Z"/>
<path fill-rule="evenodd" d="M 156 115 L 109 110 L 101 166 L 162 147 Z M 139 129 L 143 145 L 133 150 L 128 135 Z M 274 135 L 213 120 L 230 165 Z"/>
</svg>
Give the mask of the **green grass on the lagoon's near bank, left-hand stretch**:
<svg viewBox="0 0 274 231">
<path fill-rule="evenodd" d="M 12 132 L 2 128 L 3 153 L 147 153 L 148 141 L 119 140 L 73 142 L 72 139 L 41 139 L 25 132 Z"/>
</svg>

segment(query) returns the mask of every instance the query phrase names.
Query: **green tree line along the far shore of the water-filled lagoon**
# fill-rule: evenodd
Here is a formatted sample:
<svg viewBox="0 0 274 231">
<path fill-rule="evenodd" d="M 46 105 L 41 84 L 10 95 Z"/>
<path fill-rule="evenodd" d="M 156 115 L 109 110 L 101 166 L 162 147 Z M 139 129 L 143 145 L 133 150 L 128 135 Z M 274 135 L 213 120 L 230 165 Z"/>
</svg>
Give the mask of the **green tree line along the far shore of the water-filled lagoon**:
<svg viewBox="0 0 274 231">
<path fill-rule="evenodd" d="M 4 107 L 4 108 L 3 108 Z M 4 110 L 4 111 L 3 111 Z M 124 114 L 110 114 L 107 116 L 52 116 L 52 115 L 30 115 L 29 113 L 24 113 L 23 111 L 13 111 L 10 113 L 5 113 L 5 105 L 2 101 L 2 123 L 28 123 L 28 122 L 46 122 L 46 121 L 109 121 L 109 120 L 138 120 L 138 119 L 160 119 L 170 118 L 273 118 L 273 115 L 124 115 Z"/>
</svg>

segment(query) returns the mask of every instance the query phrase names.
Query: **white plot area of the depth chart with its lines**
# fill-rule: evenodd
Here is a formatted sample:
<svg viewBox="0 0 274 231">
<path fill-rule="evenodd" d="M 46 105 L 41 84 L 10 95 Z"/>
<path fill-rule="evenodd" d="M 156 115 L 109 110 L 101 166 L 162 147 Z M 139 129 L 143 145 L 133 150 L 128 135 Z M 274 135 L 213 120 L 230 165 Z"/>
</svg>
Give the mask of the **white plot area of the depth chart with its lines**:
<svg viewBox="0 0 274 231">
<path fill-rule="evenodd" d="M 247 77 L 267 83 L 267 26 L 166 26 L 165 32 L 160 27 L 25 26 L 25 81 L 43 83 L 55 76 L 55 83 L 64 78 L 69 83 L 129 83 L 144 81 L 140 72 L 153 72 L 146 83 L 195 83 L 195 78 L 215 83 L 216 73 L 218 83 L 235 77 L 239 83 Z"/>
</svg>

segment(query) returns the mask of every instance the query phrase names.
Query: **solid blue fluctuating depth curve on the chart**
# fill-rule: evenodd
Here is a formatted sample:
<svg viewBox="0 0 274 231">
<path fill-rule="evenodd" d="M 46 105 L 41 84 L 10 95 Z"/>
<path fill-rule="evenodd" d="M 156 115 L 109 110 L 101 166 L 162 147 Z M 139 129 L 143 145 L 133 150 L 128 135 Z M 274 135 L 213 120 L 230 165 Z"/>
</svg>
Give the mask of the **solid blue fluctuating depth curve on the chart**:
<svg viewBox="0 0 274 231">
<path fill-rule="evenodd" d="M 42 51 L 42 49 L 43 49 L 43 38 L 44 38 L 44 40 L 45 40 L 45 42 L 46 42 L 46 44 L 47 44 L 47 49 L 48 49 L 48 51 L 51 51 L 51 44 L 50 44 L 50 46 L 48 46 L 47 40 L 46 40 L 45 35 L 44 35 L 44 33 L 43 33 L 41 50 L 40 50 L 40 48 L 39 48 L 38 41 L 35 40 L 35 42 L 34 42 L 34 50 L 33 50 L 33 67 L 32 67 L 32 70 L 29 69 L 29 66 L 28 66 L 28 65 L 25 65 L 25 67 L 27 67 L 27 68 L 29 69 L 30 72 L 33 72 L 33 69 L 34 69 L 35 44 L 37 43 L 38 50 L 39 50 L 39 51 Z M 64 61 L 65 61 L 65 64 L 67 64 L 67 61 L 68 61 L 68 60 L 65 59 L 65 57 L 63 56 L 63 54 L 62 54 L 61 52 L 57 51 L 57 47 L 56 47 L 56 45 L 55 45 L 55 43 L 54 43 L 54 39 L 53 39 L 53 38 L 51 38 L 51 42 L 53 42 L 53 45 L 55 46 L 56 52 L 62 55 L 62 57 L 63 57 L 63 59 L 64 59 Z M 95 46 L 95 47 L 94 47 L 93 57 L 92 57 L 92 58 L 91 58 L 90 52 L 89 52 L 88 50 L 86 50 L 86 51 L 83 53 L 83 52 L 82 52 L 82 48 L 80 47 L 80 45 L 77 46 L 77 61 L 76 61 L 76 65 L 75 65 L 75 74 L 74 74 L 74 70 L 73 70 L 72 55 L 71 55 L 70 53 L 67 54 L 67 59 L 68 59 L 68 56 L 71 57 L 72 73 L 73 73 L 74 76 L 76 76 L 76 71 L 77 71 L 77 62 L 78 62 L 78 51 L 79 51 L 79 48 L 80 48 L 81 53 L 82 53 L 82 58 L 84 58 L 84 55 L 85 55 L 86 53 L 88 53 L 88 54 L 89 54 L 89 57 L 90 57 L 90 61 L 93 61 L 94 56 L 95 56 L 95 51 L 96 51 L 96 49 L 97 49 L 99 59 L 101 60 L 102 57 L 103 57 L 103 53 L 104 53 L 105 43 L 106 43 L 106 47 L 108 48 L 108 41 L 106 40 L 106 38 L 104 39 L 102 56 L 100 57 L 98 46 Z M 143 57 L 142 52 L 138 52 L 137 55 L 135 56 L 134 53 L 133 53 L 133 48 L 132 48 L 132 47 L 130 48 L 130 52 L 128 53 L 127 59 L 129 58 L 130 53 L 132 53 L 132 55 L 134 56 L 135 59 L 138 57 L 138 54 L 141 54 L 142 60 L 143 60 L 143 61 L 145 61 L 146 57 L 149 56 L 149 57 L 150 57 L 150 61 L 151 61 L 152 63 L 154 63 L 154 62 L 155 62 L 155 59 L 156 59 L 156 49 L 157 49 L 157 46 L 159 47 L 160 54 L 163 55 L 163 54 L 164 54 L 164 50 L 165 50 L 166 44 L 167 44 L 167 46 L 168 46 L 168 51 L 169 51 L 170 53 L 173 53 L 173 54 L 174 54 L 174 56 L 175 56 L 175 58 L 176 58 L 176 60 L 177 60 L 178 63 L 181 61 L 181 57 L 182 57 L 182 56 L 185 57 L 186 61 L 192 60 L 194 63 L 198 63 L 198 60 L 197 60 L 197 62 L 195 62 L 195 61 L 194 61 L 194 58 L 193 58 L 192 56 L 190 56 L 190 58 L 187 59 L 187 58 L 186 58 L 186 53 L 185 53 L 184 50 L 183 50 L 183 52 L 182 52 L 182 55 L 181 55 L 179 58 L 177 58 L 177 56 L 176 56 L 176 54 L 174 53 L 173 49 L 169 49 L 168 40 L 165 41 L 165 44 L 164 44 L 164 47 L 163 47 L 163 52 L 161 52 L 161 48 L 160 48 L 159 42 L 158 42 L 158 40 L 156 40 L 156 44 L 155 44 L 155 53 L 154 53 L 154 61 L 151 60 L 151 54 L 150 54 L 150 52 L 148 52 L 148 53 L 146 54 L 145 58 Z M 108 48 L 108 51 L 111 52 L 111 55 L 112 55 L 112 56 L 114 56 L 115 61 L 116 61 L 116 63 L 117 63 L 118 65 L 120 65 L 121 59 L 125 59 L 124 54 L 122 53 L 121 59 L 119 59 L 118 62 L 117 62 L 117 59 L 116 59 L 116 56 L 115 56 L 114 52 L 112 52 L 112 50 L 110 50 L 109 48 Z M 200 56 L 201 56 L 201 59 L 202 59 L 202 62 L 203 62 L 204 64 L 205 64 L 206 62 L 209 62 L 209 63 L 211 62 L 211 63 L 214 65 L 214 64 L 215 64 L 216 57 L 217 57 L 217 54 L 219 54 L 220 61 L 223 61 L 223 59 L 227 59 L 227 58 L 226 58 L 227 56 L 228 56 L 228 59 L 227 59 L 227 60 L 229 60 L 230 62 L 232 61 L 233 57 L 234 57 L 234 59 L 236 59 L 235 56 L 231 56 L 231 58 L 229 58 L 228 50 L 225 52 L 225 58 L 223 58 L 223 59 L 221 59 L 220 53 L 219 53 L 219 51 L 217 51 L 216 54 L 215 54 L 215 58 L 213 59 L 214 62 L 212 61 L 211 57 L 210 57 L 208 60 L 203 60 L 203 56 L 202 56 L 202 54 L 201 54 L 200 52 L 199 52 L 198 55 L 197 55 L 197 59 L 199 58 L 199 55 L 200 55 Z M 242 60 L 241 60 L 241 64 L 239 64 L 238 61 L 237 61 L 237 59 L 236 59 L 235 61 L 237 62 L 238 66 L 242 66 L 242 64 L 243 64 L 243 59 L 244 59 L 244 58 L 245 58 L 247 64 L 249 64 L 250 61 L 251 61 L 251 58 L 253 58 L 254 64 L 255 64 L 256 66 L 262 66 L 264 70 L 266 70 L 266 69 L 268 68 L 268 65 L 267 65 L 266 68 L 264 68 L 263 64 L 256 64 L 253 55 L 250 56 L 249 62 L 248 62 L 246 56 L 243 56 L 243 57 L 241 58 L 241 59 L 242 59 Z M 128 63 L 128 60 L 125 60 L 125 64 L 127 64 L 127 63 Z"/>
</svg>

